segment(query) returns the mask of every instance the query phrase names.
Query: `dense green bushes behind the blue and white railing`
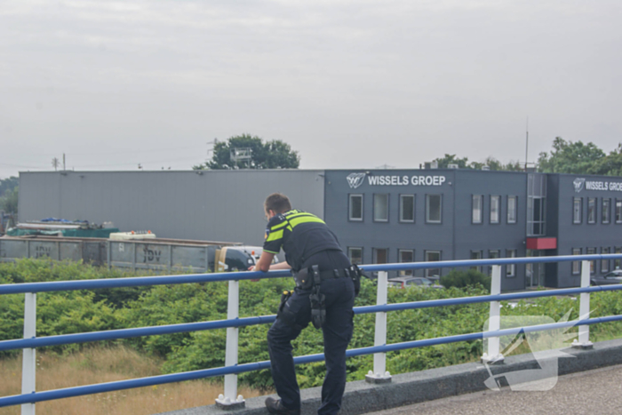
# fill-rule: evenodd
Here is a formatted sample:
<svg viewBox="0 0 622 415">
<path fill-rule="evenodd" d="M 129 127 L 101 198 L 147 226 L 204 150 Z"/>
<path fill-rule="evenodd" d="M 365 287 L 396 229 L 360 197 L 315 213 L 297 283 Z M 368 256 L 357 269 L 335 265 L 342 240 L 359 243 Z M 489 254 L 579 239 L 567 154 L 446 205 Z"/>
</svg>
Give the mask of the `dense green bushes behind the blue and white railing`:
<svg viewBox="0 0 622 415">
<path fill-rule="evenodd" d="M 91 267 L 81 263 L 55 262 L 49 259 L 23 259 L 0 263 L 0 283 L 62 281 L 133 276 L 129 272 Z M 453 299 L 486 295 L 490 292 L 487 275 L 469 271 L 451 271 L 441 279 L 446 290 L 389 290 L 388 303 L 430 299 Z M 376 304 L 375 282 L 363 279 L 355 307 Z M 274 315 L 280 294 L 293 288 L 291 278 L 264 279 L 257 283 L 240 282 L 240 316 Z M 138 288 L 138 287 L 137 287 Z M 592 294 L 592 317 L 622 314 L 622 291 Z M 558 321 L 568 310 L 570 320 L 578 316 L 578 301 L 570 297 L 550 297 L 519 301 L 504 307 L 502 315 L 547 315 Z M 23 335 L 24 295 L 0 296 L 0 340 L 20 339 Z M 489 316 L 489 304 L 429 307 L 388 313 L 387 344 L 432 339 L 482 331 Z M 98 291 L 42 292 L 37 295 L 37 335 L 52 336 L 85 331 L 107 331 L 174 323 L 222 320 L 227 318 L 227 283 L 187 283 Z M 355 315 L 355 332 L 349 348 L 374 344 L 373 313 Z M 261 362 L 267 355 L 268 324 L 243 327 L 239 331 L 239 363 Z M 576 331 L 576 328 L 571 330 Z M 615 339 L 622 323 L 597 324 L 590 329 L 593 341 Z M 163 357 L 162 371 L 173 373 L 220 367 L 225 364 L 227 332 L 224 329 L 195 331 L 136 339 L 111 340 L 129 345 L 140 353 Z M 109 342 L 109 343 L 111 343 Z M 54 351 L 75 350 L 83 345 L 54 347 Z M 292 342 L 294 355 L 323 352 L 322 331 L 309 327 Z M 17 355 L 19 351 L 4 352 Z M 482 341 L 420 347 L 387 354 L 387 371 L 403 373 L 451 364 L 474 362 L 482 355 Z M 363 355 L 347 359 L 347 379 L 363 379 L 373 367 L 373 357 Z M 323 363 L 297 367 L 300 387 L 322 384 Z M 272 387 L 269 370 L 251 371 L 239 376 L 243 384 L 256 388 Z"/>
</svg>

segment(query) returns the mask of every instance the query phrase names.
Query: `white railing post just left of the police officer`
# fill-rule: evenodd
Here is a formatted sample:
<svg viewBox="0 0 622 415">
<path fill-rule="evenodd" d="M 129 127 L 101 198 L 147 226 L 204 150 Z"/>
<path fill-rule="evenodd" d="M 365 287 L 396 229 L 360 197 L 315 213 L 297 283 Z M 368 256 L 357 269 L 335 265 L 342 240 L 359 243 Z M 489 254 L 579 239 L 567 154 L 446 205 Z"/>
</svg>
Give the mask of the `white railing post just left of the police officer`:
<svg viewBox="0 0 622 415">
<path fill-rule="evenodd" d="M 229 281 L 229 298 L 227 301 L 227 320 L 239 317 L 240 282 Z M 227 350 L 225 366 L 237 365 L 237 327 L 227 327 Z M 223 409 L 243 408 L 246 403 L 242 395 L 237 395 L 237 375 L 225 375 L 225 394 L 219 395 L 216 404 Z"/>
</svg>

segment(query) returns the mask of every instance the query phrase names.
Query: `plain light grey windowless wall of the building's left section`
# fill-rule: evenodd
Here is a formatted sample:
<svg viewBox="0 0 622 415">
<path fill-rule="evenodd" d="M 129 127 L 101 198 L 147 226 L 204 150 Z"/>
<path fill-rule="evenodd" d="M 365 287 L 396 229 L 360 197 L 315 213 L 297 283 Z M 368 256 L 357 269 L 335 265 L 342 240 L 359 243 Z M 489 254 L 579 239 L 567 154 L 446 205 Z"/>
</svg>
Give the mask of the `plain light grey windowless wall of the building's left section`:
<svg viewBox="0 0 622 415">
<path fill-rule="evenodd" d="M 20 172 L 20 220 L 112 221 L 158 237 L 263 243 L 263 202 L 283 192 L 323 217 L 322 171 Z"/>
</svg>

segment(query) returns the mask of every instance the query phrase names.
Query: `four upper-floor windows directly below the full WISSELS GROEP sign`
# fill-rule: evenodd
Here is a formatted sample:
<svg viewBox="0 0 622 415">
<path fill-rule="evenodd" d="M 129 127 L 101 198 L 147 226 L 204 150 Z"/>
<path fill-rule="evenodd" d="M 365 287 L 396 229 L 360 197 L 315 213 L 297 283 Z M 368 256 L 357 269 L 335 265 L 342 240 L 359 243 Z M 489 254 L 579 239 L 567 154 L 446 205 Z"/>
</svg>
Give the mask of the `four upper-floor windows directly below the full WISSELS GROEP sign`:
<svg viewBox="0 0 622 415">
<path fill-rule="evenodd" d="M 364 195 L 348 195 L 348 216 L 352 222 L 363 222 Z M 373 195 L 373 221 L 388 222 L 389 194 Z M 443 220 L 443 195 L 426 195 L 426 223 Z M 400 195 L 399 221 L 415 223 L 415 195 Z"/>
</svg>

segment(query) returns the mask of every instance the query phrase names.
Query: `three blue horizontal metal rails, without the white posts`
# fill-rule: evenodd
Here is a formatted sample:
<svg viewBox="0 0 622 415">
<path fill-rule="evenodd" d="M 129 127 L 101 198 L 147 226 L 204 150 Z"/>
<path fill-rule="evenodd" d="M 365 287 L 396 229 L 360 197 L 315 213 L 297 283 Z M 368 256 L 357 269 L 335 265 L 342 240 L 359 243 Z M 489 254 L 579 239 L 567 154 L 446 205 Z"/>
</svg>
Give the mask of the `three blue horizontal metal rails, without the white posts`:
<svg viewBox="0 0 622 415">
<path fill-rule="evenodd" d="M 560 257 L 535 257 L 535 258 L 513 258 L 513 259 L 471 259 L 471 260 L 452 260 L 438 261 L 426 263 L 399 263 L 399 264 L 377 264 L 361 266 L 366 272 L 377 271 L 397 271 L 406 269 L 426 269 L 426 268 L 442 268 L 442 267 L 477 267 L 477 266 L 501 266 L 510 264 L 525 263 L 543 263 L 543 262 L 562 262 L 562 261 L 590 261 L 602 259 L 622 259 L 622 254 L 604 254 L 604 255 L 580 255 L 580 256 L 560 256 Z M 585 266 L 585 263 L 584 263 Z M 273 271 L 269 273 L 262 272 L 237 272 L 227 274 L 199 274 L 199 275 L 175 275 L 175 276 L 148 276 L 148 277 L 132 277 L 105 280 L 83 280 L 83 281 L 65 281 L 51 283 L 15 283 L 0 285 L 0 295 L 15 293 L 34 293 L 44 291 L 71 291 L 71 290 L 92 290 L 97 288 L 119 288 L 132 286 L 148 286 L 162 284 L 178 284 L 178 283 L 205 283 L 205 282 L 222 282 L 222 281 L 239 281 L 257 278 L 278 278 L 289 276 L 289 271 Z M 355 307 L 355 314 L 364 313 L 387 313 L 389 311 L 398 311 L 406 309 L 416 309 L 424 307 L 443 307 L 454 305 L 466 305 L 490 301 L 505 301 L 512 299 L 539 298 L 555 295 L 574 295 L 579 293 L 589 293 L 594 291 L 617 291 L 622 290 L 622 284 L 570 288 L 549 291 L 530 291 L 515 292 L 509 294 L 496 294 L 476 297 L 464 297 L 458 299 L 435 299 L 426 301 L 416 301 L 399 304 L 384 304 L 377 306 Z M 213 330 L 231 327 L 242 327 L 254 324 L 272 323 L 275 321 L 275 315 L 264 315 L 255 317 L 235 318 L 228 320 L 219 320 L 201 323 L 182 323 L 170 324 L 156 327 L 142 327 L 134 329 L 114 330 L 114 331 L 96 331 L 90 333 L 76 333 L 58 336 L 48 336 L 32 339 L 12 339 L 0 341 L 0 351 L 12 350 L 20 348 L 36 348 L 44 346 L 58 346 L 65 344 L 81 343 L 88 341 L 107 340 L 107 339 L 127 339 L 132 337 L 150 336 L 156 334 L 171 334 L 188 331 Z M 387 353 L 397 350 L 403 350 L 414 347 L 427 347 L 458 341 L 472 341 L 478 339 L 498 338 L 500 336 L 516 334 L 519 331 L 546 331 L 557 328 L 567 328 L 572 326 L 586 326 L 595 323 L 610 323 L 622 321 L 622 315 L 610 315 L 597 318 L 584 318 L 574 322 L 541 324 L 537 326 L 514 328 L 496 331 L 483 331 L 477 333 L 459 334 L 437 339 L 421 339 L 403 343 L 395 343 L 390 345 L 362 347 L 347 351 L 347 356 L 371 355 L 379 353 Z M 323 361 L 323 354 L 297 356 L 294 363 L 312 363 Z M 148 387 L 165 383 L 179 382 L 182 380 L 204 379 L 216 376 L 230 375 L 242 373 L 245 371 L 257 371 L 269 368 L 269 362 L 243 363 L 234 366 L 226 366 L 221 368 L 205 369 L 201 371 L 188 371 L 183 373 L 167 374 L 142 379 L 129 379 L 116 382 L 108 382 L 98 385 L 89 385 L 83 387 L 68 387 L 63 389 L 33 392 L 31 394 L 13 395 L 0 397 L 0 407 L 11 406 L 24 403 L 37 403 L 50 401 L 79 395 L 91 395 L 102 392 L 110 392 L 116 390 L 129 389 L 133 387 Z"/>
</svg>

